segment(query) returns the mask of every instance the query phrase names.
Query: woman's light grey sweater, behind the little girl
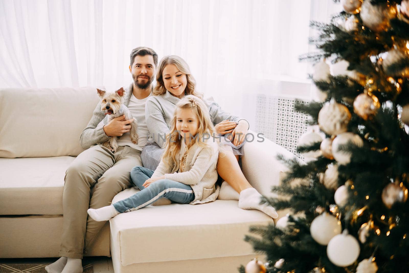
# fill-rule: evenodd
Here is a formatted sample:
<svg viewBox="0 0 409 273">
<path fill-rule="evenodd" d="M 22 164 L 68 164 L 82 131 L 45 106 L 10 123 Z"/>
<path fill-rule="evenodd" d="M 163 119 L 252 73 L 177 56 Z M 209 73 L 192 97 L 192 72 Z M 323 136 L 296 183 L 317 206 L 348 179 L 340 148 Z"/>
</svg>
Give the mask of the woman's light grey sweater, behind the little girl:
<svg viewBox="0 0 409 273">
<path fill-rule="evenodd" d="M 148 98 L 145 106 L 145 117 L 149 133 L 151 133 L 151 138 L 153 138 L 148 142 L 156 142 L 161 148 L 164 148 L 164 134 L 169 133 L 170 131 L 173 113 L 175 112 L 176 104 L 179 101 L 179 98 L 174 97 L 167 90 L 163 95 Z M 209 114 L 213 125 L 216 125 L 223 120 L 234 122 L 240 120 L 240 117 L 236 117 L 223 111 L 216 102 L 205 100 L 205 103 L 209 108 Z"/>
</svg>

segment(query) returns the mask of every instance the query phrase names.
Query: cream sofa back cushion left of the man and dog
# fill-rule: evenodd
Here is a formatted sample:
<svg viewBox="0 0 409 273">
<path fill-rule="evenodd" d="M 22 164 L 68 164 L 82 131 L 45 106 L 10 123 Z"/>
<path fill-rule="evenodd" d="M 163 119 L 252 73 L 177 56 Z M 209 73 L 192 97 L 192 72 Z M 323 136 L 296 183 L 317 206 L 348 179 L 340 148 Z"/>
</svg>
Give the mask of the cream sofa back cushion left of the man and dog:
<svg viewBox="0 0 409 273">
<path fill-rule="evenodd" d="M 0 157 L 78 156 L 98 101 L 91 87 L 0 89 Z"/>
</svg>

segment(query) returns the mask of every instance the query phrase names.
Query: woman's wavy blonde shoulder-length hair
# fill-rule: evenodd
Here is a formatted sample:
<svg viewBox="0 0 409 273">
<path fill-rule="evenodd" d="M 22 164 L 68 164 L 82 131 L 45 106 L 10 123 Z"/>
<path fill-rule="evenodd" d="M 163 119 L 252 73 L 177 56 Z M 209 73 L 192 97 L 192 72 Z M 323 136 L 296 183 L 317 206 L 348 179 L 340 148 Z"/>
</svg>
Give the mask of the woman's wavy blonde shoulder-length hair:
<svg viewBox="0 0 409 273">
<path fill-rule="evenodd" d="M 182 59 L 180 56 L 176 55 L 169 55 L 169 56 L 164 56 L 162 60 L 159 62 L 158 70 L 156 73 L 156 86 L 153 89 L 153 95 L 154 96 L 159 96 L 163 95 L 166 93 L 166 88 L 165 84 L 163 82 L 163 70 L 165 69 L 166 65 L 173 64 L 175 65 L 180 72 L 183 74 L 186 74 L 186 79 L 187 79 L 187 85 L 186 88 L 184 89 L 184 94 L 185 95 L 195 95 L 196 97 L 203 98 L 202 93 L 196 92 L 196 80 L 190 74 L 190 68 L 189 65 Z"/>
</svg>

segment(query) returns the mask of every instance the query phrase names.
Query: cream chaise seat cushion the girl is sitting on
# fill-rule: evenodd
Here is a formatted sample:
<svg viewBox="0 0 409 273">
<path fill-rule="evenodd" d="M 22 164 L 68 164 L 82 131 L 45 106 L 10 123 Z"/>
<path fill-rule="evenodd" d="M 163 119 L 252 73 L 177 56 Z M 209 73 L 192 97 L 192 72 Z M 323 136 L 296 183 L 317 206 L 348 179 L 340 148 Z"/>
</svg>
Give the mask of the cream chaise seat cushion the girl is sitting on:
<svg viewBox="0 0 409 273">
<path fill-rule="evenodd" d="M 126 189 L 112 202 L 138 190 Z M 121 264 L 206 259 L 253 254 L 243 241 L 249 226 L 272 223 L 257 210 L 242 210 L 237 201 L 216 200 L 190 205 L 148 206 L 121 213 L 110 220 L 111 241 Z"/>
</svg>

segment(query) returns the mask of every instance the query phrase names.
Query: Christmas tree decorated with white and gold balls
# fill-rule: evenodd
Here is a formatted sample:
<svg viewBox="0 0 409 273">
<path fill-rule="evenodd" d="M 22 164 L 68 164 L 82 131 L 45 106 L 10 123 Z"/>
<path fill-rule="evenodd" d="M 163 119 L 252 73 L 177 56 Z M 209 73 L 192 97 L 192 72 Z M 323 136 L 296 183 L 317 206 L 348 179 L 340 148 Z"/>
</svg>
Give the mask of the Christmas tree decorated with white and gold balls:
<svg viewBox="0 0 409 273">
<path fill-rule="evenodd" d="M 301 57 L 319 97 L 296 105 L 315 129 L 299 140 L 306 160 L 281 158 L 281 197 L 265 199 L 291 213 L 250 230 L 266 260 L 242 273 L 409 272 L 409 0 L 338 2 Z"/>
</svg>

